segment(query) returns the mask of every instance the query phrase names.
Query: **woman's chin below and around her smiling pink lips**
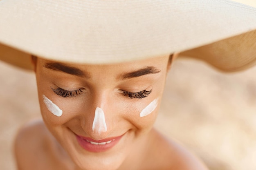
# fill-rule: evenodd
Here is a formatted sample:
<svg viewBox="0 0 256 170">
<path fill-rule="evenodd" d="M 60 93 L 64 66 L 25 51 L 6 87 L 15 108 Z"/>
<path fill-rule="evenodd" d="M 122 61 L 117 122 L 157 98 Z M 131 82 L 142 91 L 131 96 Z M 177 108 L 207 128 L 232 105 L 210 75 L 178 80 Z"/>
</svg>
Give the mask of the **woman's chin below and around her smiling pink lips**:
<svg viewBox="0 0 256 170">
<path fill-rule="evenodd" d="M 109 150 L 91 152 L 85 150 L 74 137 L 68 137 L 63 148 L 81 170 L 117 170 L 124 163 L 132 149 L 130 134 L 126 134 Z"/>
</svg>

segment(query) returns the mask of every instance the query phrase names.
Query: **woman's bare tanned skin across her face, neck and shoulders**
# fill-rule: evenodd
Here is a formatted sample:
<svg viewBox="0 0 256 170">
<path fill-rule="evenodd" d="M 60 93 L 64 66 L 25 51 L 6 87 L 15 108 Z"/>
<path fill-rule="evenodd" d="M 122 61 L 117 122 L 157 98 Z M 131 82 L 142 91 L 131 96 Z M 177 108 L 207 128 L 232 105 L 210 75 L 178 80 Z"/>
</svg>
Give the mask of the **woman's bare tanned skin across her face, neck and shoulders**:
<svg viewBox="0 0 256 170">
<path fill-rule="evenodd" d="M 163 56 L 108 65 L 63 63 L 89 75 L 81 76 L 46 68 L 52 61 L 38 58 L 35 72 L 43 121 L 30 122 L 18 132 L 15 142 L 18 169 L 207 170 L 195 156 L 153 128 L 171 66 L 168 59 Z M 159 72 L 123 77 L 149 66 Z M 67 91 L 82 89 L 82 92 L 76 97 L 61 97 L 52 90 L 58 87 Z M 152 92 L 138 99 L 124 95 L 122 90 Z M 43 95 L 63 110 L 61 117 L 47 109 Z M 139 117 L 141 110 L 157 98 L 157 108 Z M 92 130 L 96 107 L 104 111 L 106 132 Z M 95 153 L 81 148 L 75 134 L 94 140 L 123 137 L 110 150 Z"/>
</svg>

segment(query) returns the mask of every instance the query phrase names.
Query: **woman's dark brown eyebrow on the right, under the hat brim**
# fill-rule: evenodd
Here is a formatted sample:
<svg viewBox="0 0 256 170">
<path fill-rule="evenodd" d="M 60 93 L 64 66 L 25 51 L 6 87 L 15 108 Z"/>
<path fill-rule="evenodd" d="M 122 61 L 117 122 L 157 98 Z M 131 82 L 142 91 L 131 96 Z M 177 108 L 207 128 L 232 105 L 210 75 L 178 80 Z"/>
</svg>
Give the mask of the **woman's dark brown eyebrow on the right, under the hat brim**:
<svg viewBox="0 0 256 170">
<path fill-rule="evenodd" d="M 159 73 L 160 70 L 158 70 L 157 68 L 153 67 L 153 66 L 148 66 L 145 68 L 141 68 L 137 71 L 132 71 L 130 73 L 125 73 L 123 75 L 121 75 L 121 79 L 130 79 L 130 78 L 134 78 L 134 77 L 140 77 L 142 75 L 147 75 L 147 74 L 156 74 Z"/>
</svg>

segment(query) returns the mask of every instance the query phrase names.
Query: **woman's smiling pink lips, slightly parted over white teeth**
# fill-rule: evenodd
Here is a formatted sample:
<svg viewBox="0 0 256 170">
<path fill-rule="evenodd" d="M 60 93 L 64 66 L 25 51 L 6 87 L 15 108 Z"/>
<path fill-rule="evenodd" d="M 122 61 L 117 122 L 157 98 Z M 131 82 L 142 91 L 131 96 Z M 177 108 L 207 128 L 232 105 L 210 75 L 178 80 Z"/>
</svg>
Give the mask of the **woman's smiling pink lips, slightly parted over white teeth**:
<svg viewBox="0 0 256 170">
<path fill-rule="evenodd" d="M 107 150 L 110 150 L 113 148 L 119 140 L 123 137 L 123 135 L 118 137 L 111 137 L 101 140 L 94 140 L 89 137 L 82 137 L 79 135 L 76 135 L 76 139 L 79 143 L 79 145 L 90 152 L 104 152 Z"/>
</svg>

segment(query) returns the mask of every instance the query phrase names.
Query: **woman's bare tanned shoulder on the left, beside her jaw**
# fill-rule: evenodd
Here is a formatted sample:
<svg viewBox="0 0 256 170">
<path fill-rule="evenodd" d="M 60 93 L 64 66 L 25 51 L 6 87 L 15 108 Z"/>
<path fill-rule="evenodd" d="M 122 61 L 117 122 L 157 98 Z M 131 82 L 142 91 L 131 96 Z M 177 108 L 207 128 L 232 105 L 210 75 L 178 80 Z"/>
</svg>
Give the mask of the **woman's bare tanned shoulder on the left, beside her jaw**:
<svg viewBox="0 0 256 170">
<path fill-rule="evenodd" d="M 22 126 L 14 141 L 18 170 L 56 169 L 56 164 L 61 160 L 56 143 L 42 119 L 30 121 Z"/>
</svg>

